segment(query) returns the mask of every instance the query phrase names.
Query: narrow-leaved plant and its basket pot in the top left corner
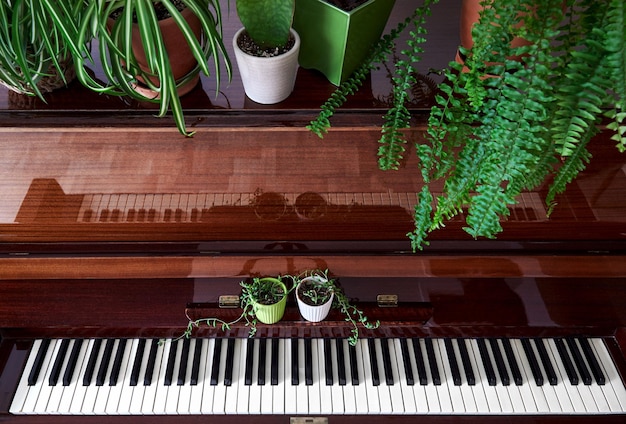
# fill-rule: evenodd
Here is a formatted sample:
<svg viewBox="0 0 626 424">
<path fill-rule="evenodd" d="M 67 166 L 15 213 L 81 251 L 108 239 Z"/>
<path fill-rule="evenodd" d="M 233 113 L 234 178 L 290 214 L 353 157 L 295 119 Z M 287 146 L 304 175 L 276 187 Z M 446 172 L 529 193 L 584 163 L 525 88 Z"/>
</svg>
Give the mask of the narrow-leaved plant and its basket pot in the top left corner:
<svg viewBox="0 0 626 424">
<path fill-rule="evenodd" d="M 0 83 L 45 101 L 45 93 L 73 80 L 77 49 L 63 30 L 82 7 L 83 0 L 0 2 Z"/>
</svg>

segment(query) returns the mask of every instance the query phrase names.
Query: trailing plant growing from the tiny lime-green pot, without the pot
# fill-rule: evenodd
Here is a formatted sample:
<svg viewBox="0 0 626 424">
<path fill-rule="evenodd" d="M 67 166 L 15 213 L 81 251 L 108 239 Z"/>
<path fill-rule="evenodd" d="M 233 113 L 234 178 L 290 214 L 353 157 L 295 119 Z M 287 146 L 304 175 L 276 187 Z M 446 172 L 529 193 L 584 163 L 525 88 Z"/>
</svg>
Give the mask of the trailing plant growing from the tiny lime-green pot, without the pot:
<svg viewBox="0 0 626 424">
<path fill-rule="evenodd" d="M 251 281 L 242 281 L 241 283 L 239 283 L 241 285 L 241 296 L 239 297 L 239 304 L 242 309 L 241 315 L 239 315 L 239 317 L 232 321 L 224 321 L 220 318 L 215 317 L 192 320 L 189 315 L 187 315 L 187 319 L 189 320 L 189 322 L 187 323 L 187 328 L 185 332 L 180 338 L 191 337 L 193 330 L 200 327 L 200 325 L 202 324 L 213 328 L 219 326 L 222 331 L 226 331 L 230 330 L 232 325 L 240 322 L 241 320 L 245 320 L 246 326 L 250 327 L 248 335 L 250 337 L 253 337 L 257 331 L 257 318 L 254 308 L 255 303 L 259 303 L 262 305 L 271 305 L 279 302 L 285 296 L 287 296 L 291 289 L 287 289 L 287 291 L 285 292 L 281 285 L 276 284 L 276 281 L 283 281 L 283 278 L 285 277 L 279 277 L 278 279 L 255 277 Z"/>
</svg>

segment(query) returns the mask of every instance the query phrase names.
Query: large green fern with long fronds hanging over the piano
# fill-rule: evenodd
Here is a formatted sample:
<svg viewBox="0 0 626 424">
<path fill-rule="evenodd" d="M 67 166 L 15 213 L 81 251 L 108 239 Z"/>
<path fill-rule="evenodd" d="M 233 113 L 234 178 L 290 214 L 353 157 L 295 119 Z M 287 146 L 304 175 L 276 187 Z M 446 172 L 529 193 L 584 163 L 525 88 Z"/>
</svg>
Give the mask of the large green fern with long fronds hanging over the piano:
<svg viewBox="0 0 626 424">
<path fill-rule="evenodd" d="M 424 24 L 436 3 L 425 1 L 382 37 L 309 128 L 322 136 L 342 96 L 411 28 L 406 54 L 395 63 L 394 104 L 379 145 L 379 167 L 400 167 L 409 142 L 402 131 L 411 120 L 408 91 L 424 50 Z M 617 149 L 626 151 L 624 2 L 541 0 L 529 8 L 516 0 L 488 0 L 483 6 L 472 29 L 473 45 L 460 49 L 466 69 L 450 62 L 426 138 L 415 140 L 416 174 L 424 184 L 415 230 L 408 234 L 414 250 L 464 210 L 472 237 L 495 237 L 507 206 L 523 190 L 547 185 L 550 212 L 556 196 L 591 159 L 587 145 L 603 122 L 614 131 Z M 526 42 L 513 45 L 515 38 Z M 443 194 L 435 199 L 430 187 L 442 183 Z"/>
</svg>

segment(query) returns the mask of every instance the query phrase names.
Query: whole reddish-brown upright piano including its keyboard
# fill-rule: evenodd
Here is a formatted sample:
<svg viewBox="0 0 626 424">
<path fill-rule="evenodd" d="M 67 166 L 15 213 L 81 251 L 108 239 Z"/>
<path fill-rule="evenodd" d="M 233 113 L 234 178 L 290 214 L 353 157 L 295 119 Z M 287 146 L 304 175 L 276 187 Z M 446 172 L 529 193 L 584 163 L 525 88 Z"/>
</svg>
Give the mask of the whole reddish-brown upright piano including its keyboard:
<svg viewBox="0 0 626 424">
<path fill-rule="evenodd" d="M 332 87 L 304 69 L 272 107 L 203 79 L 193 138 L 75 83 L 0 91 L 0 422 L 625 422 L 626 157 L 600 133 L 552 215 L 541 188 L 497 239 L 455 220 L 414 253 L 414 152 L 377 168 L 384 87 L 323 140 L 304 127 Z M 380 327 L 351 347 L 290 299 L 253 338 L 180 338 L 238 315 L 241 280 L 311 269 Z"/>
</svg>

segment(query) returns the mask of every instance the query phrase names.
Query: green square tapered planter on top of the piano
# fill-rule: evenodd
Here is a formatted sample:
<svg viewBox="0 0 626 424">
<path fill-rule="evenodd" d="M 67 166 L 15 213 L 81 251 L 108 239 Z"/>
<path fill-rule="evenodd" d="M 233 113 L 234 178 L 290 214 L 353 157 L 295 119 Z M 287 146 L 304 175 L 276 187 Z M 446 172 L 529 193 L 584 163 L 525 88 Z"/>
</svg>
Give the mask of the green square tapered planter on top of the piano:
<svg viewBox="0 0 626 424">
<path fill-rule="evenodd" d="M 324 0 L 296 0 L 293 27 L 300 35 L 300 66 L 339 85 L 380 38 L 395 0 L 368 0 L 346 12 Z"/>
</svg>

